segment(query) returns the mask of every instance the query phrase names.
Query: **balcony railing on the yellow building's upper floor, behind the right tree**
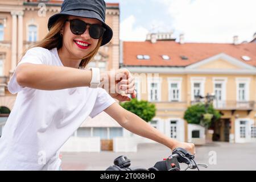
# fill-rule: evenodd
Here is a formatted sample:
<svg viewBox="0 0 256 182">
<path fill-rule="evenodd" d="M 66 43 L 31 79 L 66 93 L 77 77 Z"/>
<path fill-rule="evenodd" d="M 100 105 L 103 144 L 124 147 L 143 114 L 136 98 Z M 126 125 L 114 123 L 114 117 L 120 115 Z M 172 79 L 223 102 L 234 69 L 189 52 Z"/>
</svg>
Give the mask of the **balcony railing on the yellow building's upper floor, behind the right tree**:
<svg viewBox="0 0 256 182">
<path fill-rule="evenodd" d="M 197 101 L 191 101 L 191 105 L 197 104 Z M 253 110 L 255 101 L 213 101 L 215 109 L 219 110 Z"/>
</svg>

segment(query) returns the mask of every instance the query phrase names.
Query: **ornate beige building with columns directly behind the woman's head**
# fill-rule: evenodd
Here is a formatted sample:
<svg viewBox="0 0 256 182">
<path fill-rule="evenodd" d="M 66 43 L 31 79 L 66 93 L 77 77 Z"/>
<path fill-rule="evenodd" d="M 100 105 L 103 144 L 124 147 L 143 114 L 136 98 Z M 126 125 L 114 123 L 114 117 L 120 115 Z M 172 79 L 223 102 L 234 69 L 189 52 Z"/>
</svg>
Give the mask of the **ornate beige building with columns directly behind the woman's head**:
<svg viewBox="0 0 256 182">
<path fill-rule="evenodd" d="M 0 1 L 0 106 L 13 108 L 16 95 L 7 90 L 10 76 L 22 55 L 29 46 L 46 36 L 48 18 L 59 13 L 63 1 L 48 0 L 6 0 Z M 107 3 L 106 23 L 113 29 L 113 39 L 100 48 L 94 60 L 88 65 L 101 70 L 119 68 L 119 4 Z M 0 122 L 0 135 L 3 123 Z M 97 120 L 93 119 L 93 120 Z M 113 121 L 105 125 L 113 126 Z M 91 121 L 93 122 L 93 121 Z M 115 126 L 115 125 L 114 125 Z M 87 123 L 86 127 L 90 127 Z M 108 129 L 109 131 L 109 129 Z M 93 133 L 92 133 L 93 134 Z"/>
</svg>

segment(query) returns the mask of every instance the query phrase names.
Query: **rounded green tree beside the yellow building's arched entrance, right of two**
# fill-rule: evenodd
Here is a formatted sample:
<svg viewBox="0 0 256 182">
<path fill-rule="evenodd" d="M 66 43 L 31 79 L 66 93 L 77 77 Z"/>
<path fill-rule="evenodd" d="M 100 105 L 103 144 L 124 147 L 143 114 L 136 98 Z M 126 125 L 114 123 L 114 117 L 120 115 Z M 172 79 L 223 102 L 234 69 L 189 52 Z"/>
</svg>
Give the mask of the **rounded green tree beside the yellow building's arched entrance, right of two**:
<svg viewBox="0 0 256 182">
<path fill-rule="evenodd" d="M 220 117 L 220 112 L 215 110 L 212 104 L 206 106 L 203 103 L 189 106 L 184 114 L 184 119 L 188 123 L 201 125 L 206 129 L 209 128 L 212 122 L 220 119 Z"/>
</svg>

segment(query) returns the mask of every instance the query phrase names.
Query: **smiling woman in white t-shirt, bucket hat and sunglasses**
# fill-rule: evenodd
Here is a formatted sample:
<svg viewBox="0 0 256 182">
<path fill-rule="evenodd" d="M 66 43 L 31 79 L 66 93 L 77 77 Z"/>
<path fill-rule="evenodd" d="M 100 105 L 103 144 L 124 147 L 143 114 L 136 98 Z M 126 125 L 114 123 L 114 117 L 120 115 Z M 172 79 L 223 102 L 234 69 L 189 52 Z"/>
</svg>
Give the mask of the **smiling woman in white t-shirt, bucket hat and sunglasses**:
<svg viewBox="0 0 256 182">
<path fill-rule="evenodd" d="M 93 2 L 65 0 L 61 12 L 49 18 L 46 38 L 19 61 L 8 85 L 18 94 L 0 139 L 1 170 L 58 170 L 61 146 L 89 115 L 101 111 L 171 150 L 195 152 L 193 144 L 166 137 L 115 102 L 130 100 L 119 90 L 136 96 L 129 71 L 118 69 L 113 75 L 83 69 L 113 35 L 105 24 L 105 2 Z M 119 86 L 118 92 L 112 93 L 112 86 Z"/>
</svg>

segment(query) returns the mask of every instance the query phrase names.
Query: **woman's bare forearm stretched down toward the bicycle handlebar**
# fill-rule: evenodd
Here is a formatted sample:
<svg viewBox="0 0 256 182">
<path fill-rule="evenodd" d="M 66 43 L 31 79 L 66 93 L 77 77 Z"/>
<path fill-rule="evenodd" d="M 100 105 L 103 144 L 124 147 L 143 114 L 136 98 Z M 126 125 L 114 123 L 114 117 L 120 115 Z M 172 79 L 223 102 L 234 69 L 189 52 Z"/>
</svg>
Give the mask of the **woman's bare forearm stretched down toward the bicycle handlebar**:
<svg viewBox="0 0 256 182">
<path fill-rule="evenodd" d="M 172 146 L 174 146 L 176 143 L 176 140 L 167 137 L 150 124 L 143 121 L 143 119 L 139 118 L 137 115 L 130 113 L 130 111 L 127 111 L 126 121 L 120 123 L 120 125 L 134 134 L 152 139 L 155 142 L 162 143 L 169 148 L 172 148 Z"/>
</svg>

